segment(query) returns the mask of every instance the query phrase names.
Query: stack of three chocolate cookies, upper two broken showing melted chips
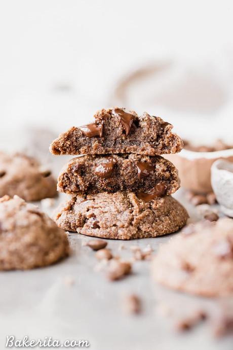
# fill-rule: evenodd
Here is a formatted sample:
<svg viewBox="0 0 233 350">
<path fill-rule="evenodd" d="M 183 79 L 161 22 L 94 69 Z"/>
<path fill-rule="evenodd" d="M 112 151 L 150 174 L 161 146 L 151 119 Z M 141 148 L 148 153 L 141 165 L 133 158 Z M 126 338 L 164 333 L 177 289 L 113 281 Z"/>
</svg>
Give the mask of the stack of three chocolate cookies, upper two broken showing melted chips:
<svg viewBox="0 0 233 350">
<path fill-rule="evenodd" d="M 183 147 L 173 126 L 117 107 L 94 117 L 94 123 L 60 134 L 50 147 L 55 155 L 83 155 L 59 175 L 58 191 L 72 197 L 59 208 L 57 225 L 114 239 L 156 237 L 183 227 L 187 212 L 170 196 L 180 186 L 178 172 L 161 157 Z"/>
</svg>

